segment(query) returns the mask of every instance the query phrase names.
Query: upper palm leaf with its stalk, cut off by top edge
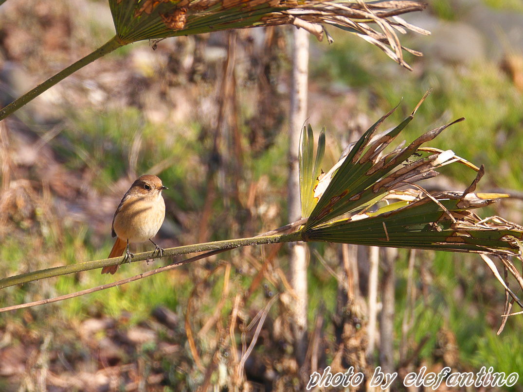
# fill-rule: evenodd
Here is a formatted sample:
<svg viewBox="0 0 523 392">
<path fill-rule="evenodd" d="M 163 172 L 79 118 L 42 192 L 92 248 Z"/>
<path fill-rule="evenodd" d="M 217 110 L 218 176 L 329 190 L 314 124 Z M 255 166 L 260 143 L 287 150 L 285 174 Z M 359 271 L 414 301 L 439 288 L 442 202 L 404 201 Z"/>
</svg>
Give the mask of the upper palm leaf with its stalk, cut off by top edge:
<svg viewBox="0 0 523 392">
<path fill-rule="evenodd" d="M 4 0 L 5 1 L 5 0 Z M 180 35 L 262 26 L 294 25 L 322 40 L 324 26 L 334 26 L 357 34 L 378 46 L 400 65 L 411 69 L 403 60 L 403 51 L 421 53 L 403 47 L 396 31 L 428 31 L 410 25 L 399 15 L 419 11 L 424 3 L 414 1 L 354 0 L 108 0 L 116 35 L 94 52 L 63 69 L 0 110 L 0 120 L 14 113 L 60 80 L 92 63 L 120 46 L 142 40 L 158 40 Z M 0 0 L 0 4 L 3 0 Z M 377 25 L 381 31 L 372 28 Z M 329 41 L 330 35 L 327 34 Z"/>
</svg>

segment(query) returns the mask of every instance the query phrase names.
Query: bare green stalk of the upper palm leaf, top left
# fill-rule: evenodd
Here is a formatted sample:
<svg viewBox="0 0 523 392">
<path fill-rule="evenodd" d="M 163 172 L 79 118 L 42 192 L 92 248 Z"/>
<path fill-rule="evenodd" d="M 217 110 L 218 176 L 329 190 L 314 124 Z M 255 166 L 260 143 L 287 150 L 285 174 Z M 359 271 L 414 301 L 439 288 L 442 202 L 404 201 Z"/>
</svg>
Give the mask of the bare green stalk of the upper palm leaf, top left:
<svg viewBox="0 0 523 392">
<path fill-rule="evenodd" d="M 2 0 L 0 0 L 2 1 Z M 1 3 L 0 3 L 1 4 Z M 123 46 L 125 43 L 121 42 L 118 37 L 113 37 L 105 44 L 101 45 L 97 50 L 92 53 L 89 53 L 87 56 L 81 58 L 76 63 L 71 64 L 69 67 L 62 69 L 58 74 L 51 76 L 49 79 L 44 81 L 42 84 L 33 88 L 32 90 L 26 92 L 23 96 L 17 98 L 13 102 L 9 103 L 5 108 L 0 110 L 0 120 L 3 120 L 9 114 L 16 112 L 26 103 L 38 97 L 42 92 L 48 90 L 57 84 L 60 80 L 65 79 L 67 76 L 76 72 L 78 69 L 85 67 L 87 64 L 92 63 L 97 58 L 104 56 L 115 49 L 118 49 L 120 46 Z"/>
</svg>

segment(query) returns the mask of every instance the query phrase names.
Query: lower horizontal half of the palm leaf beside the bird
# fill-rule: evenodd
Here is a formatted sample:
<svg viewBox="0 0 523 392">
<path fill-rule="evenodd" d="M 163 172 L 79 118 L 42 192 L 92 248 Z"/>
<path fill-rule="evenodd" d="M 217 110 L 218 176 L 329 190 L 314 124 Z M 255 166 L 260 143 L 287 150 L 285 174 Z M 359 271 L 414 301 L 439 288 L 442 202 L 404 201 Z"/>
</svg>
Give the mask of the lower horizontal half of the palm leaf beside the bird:
<svg viewBox="0 0 523 392">
<path fill-rule="evenodd" d="M 523 227 L 498 217 L 482 221 L 471 212 L 495 203 L 495 198 L 458 192 L 431 196 L 419 192 L 407 205 L 325 223 L 303 236 L 308 241 L 519 255 L 517 240 L 523 239 Z"/>
</svg>

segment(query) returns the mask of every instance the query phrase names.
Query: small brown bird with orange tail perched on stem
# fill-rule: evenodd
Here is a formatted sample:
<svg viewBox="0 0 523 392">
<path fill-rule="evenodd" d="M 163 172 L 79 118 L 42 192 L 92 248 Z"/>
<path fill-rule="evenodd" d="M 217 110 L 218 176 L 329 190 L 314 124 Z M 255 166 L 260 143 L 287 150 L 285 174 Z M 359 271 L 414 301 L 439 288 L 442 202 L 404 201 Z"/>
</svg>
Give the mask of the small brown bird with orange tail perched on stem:
<svg viewBox="0 0 523 392">
<path fill-rule="evenodd" d="M 162 226 L 165 218 L 165 203 L 162 197 L 162 180 L 152 174 L 142 175 L 134 181 L 129 191 L 123 195 L 120 205 L 112 218 L 112 236 L 117 237 L 112 246 L 111 257 L 119 257 L 126 251 L 124 260 L 131 260 L 129 243 L 151 241 L 154 251 L 163 256 L 164 250 L 151 240 Z M 117 265 L 102 268 L 102 274 L 114 274 Z"/>
</svg>

